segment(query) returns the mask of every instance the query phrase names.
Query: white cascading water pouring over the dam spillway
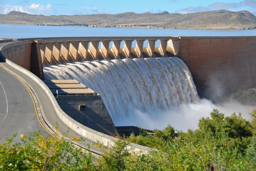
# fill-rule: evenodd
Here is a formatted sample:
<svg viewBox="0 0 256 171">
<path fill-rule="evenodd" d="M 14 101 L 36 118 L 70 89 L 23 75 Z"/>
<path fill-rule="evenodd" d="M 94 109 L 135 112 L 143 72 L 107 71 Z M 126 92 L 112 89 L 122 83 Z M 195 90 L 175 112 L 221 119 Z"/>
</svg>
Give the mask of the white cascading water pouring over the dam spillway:
<svg viewBox="0 0 256 171">
<path fill-rule="evenodd" d="M 75 79 L 99 93 L 116 126 L 136 126 L 142 113 L 157 117 L 199 100 L 188 67 L 177 57 L 53 65 L 44 68 L 44 77 Z"/>
</svg>

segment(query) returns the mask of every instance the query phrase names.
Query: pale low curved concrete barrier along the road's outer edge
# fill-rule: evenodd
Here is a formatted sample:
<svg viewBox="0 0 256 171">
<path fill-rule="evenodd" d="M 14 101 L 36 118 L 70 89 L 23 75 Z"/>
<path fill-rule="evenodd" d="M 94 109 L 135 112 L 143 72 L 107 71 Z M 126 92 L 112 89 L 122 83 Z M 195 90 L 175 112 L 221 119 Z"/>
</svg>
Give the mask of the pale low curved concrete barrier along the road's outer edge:
<svg viewBox="0 0 256 171">
<path fill-rule="evenodd" d="M 31 41 L 26 41 L 23 42 L 22 44 L 26 44 L 26 43 L 31 43 Z M 16 43 L 12 43 L 11 45 L 7 45 L 7 47 L 11 46 L 11 47 L 15 47 Z M 17 45 L 20 45 L 17 42 Z M 7 47 L 3 47 L 1 50 L 6 49 Z M 1 56 L 4 57 L 4 55 L 2 54 Z M 40 80 L 36 75 L 34 75 L 33 73 L 27 71 L 27 69 L 22 68 L 21 66 L 15 64 L 14 62 L 11 62 L 10 60 L 8 60 L 7 58 L 4 57 L 4 60 L 6 61 L 6 63 L 8 65 L 11 65 L 13 68 L 17 69 L 18 71 L 21 71 L 22 73 L 24 73 L 25 75 L 29 76 L 31 79 L 33 79 L 38 85 L 40 85 L 40 87 L 47 93 L 49 99 L 51 100 L 55 111 L 57 113 L 57 115 L 59 116 L 59 118 L 72 130 L 74 130 L 75 132 L 79 133 L 80 135 L 94 141 L 94 142 L 100 142 L 101 144 L 107 146 L 108 144 L 110 146 L 114 145 L 114 141 L 118 140 L 115 137 L 111 137 L 108 136 L 106 134 L 97 132 L 93 129 L 90 129 L 84 125 L 82 125 L 81 123 L 75 121 L 74 119 L 72 119 L 71 117 L 69 117 L 66 113 L 64 113 L 64 111 L 60 108 L 59 104 L 57 103 L 55 97 L 53 96 L 52 92 L 50 91 L 50 89 L 45 85 L 45 83 Z M 47 119 L 46 119 L 47 120 Z M 131 143 L 131 146 L 128 147 L 129 149 L 133 149 L 134 152 L 138 152 L 138 151 L 142 151 L 142 153 L 147 153 L 148 151 L 151 151 L 152 149 L 142 146 L 142 145 L 138 145 L 138 144 L 134 144 Z"/>
</svg>

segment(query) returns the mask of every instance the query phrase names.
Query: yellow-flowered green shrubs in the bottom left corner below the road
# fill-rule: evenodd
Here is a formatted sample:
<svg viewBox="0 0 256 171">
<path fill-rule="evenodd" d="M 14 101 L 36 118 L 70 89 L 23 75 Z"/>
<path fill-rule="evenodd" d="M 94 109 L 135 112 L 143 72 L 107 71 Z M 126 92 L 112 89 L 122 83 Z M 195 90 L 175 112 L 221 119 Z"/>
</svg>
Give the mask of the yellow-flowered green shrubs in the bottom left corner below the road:
<svg viewBox="0 0 256 171">
<path fill-rule="evenodd" d="M 63 137 L 42 137 L 41 132 L 21 134 L 21 142 L 14 145 L 17 136 L 0 144 L 0 170 L 93 170 L 92 153 L 85 155 Z"/>
</svg>

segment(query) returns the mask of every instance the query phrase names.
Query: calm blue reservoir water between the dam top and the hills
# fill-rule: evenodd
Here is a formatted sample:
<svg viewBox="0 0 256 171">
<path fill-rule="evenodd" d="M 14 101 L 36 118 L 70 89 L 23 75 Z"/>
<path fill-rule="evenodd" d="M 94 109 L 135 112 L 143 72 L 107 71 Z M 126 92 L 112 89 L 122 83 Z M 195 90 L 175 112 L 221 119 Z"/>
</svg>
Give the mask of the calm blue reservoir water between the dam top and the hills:
<svg viewBox="0 0 256 171">
<path fill-rule="evenodd" d="M 86 36 L 256 36 L 256 30 L 184 30 L 0 24 L 0 38 Z"/>
</svg>

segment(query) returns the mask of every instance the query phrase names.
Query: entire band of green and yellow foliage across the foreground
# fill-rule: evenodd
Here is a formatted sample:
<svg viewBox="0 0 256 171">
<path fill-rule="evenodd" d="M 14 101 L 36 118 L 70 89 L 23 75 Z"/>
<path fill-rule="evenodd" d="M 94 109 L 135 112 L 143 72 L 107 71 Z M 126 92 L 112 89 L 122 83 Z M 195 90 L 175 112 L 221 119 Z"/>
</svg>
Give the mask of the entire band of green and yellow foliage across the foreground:
<svg viewBox="0 0 256 171">
<path fill-rule="evenodd" d="M 241 114 L 224 117 L 214 110 L 211 117 L 200 119 L 199 129 L 180 132 L 178 138 L 170 125 L 154 130 L 153 136 L 125 138 L 159 149 L 148 154 L 130 151 L 130 142 L 123 140 L 111 149 L 97 144 L 103 154 L 95 162 L 64 138 L 21 135 L 22 143 L 10 145 L 12 137 L 0 144 L 0 170 L 256 170 L 256 110 L 251 115 L 246 121 Z"/>
</svg>

